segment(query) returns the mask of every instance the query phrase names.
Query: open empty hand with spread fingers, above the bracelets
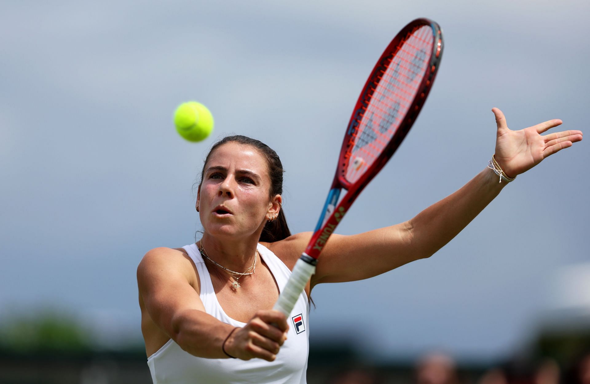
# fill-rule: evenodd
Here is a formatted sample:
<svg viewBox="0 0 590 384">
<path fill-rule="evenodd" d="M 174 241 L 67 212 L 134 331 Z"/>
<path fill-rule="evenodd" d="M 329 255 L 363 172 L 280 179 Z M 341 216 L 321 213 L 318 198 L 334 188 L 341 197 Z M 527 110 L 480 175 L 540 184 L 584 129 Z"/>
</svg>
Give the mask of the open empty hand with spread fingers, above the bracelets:
<svg viewBox="0 0 590 384">
<path fill-rule="evenodd" d="M 559 119 L 533 125 L 520 131 L 512 131 L 506 125 L 506 118 L 498 108 L 492 108 L 498 126 L 496 136 L 496 161 L 509 177 L 526 172 L 539 164 L 544 158 L 571 147 L 582 140 L 582 131 L 571 130 L 541 134 L 562 123 Z"/>
</svg>

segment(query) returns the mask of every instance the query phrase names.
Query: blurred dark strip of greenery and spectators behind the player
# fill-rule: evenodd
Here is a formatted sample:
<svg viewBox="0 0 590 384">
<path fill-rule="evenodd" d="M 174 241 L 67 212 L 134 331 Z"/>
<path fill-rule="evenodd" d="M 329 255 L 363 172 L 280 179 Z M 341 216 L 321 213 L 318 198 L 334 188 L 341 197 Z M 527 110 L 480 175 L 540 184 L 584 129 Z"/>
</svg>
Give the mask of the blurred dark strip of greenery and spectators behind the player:
<svg viewBox="0 0 590 384">
<path fill-rule="evenodd" d="M 63 312 L 5 320 L 0 383 L 151 382 L 141 340 L 113 347 L 90 335 Z M 346 340 L 312 338 L 307 378 L 310 384 L 590 384 L 590 315 L 560 312 L 559 320 L 494 360 L 457 359 L 444 350 L 376 360 Z"/>
</svg>

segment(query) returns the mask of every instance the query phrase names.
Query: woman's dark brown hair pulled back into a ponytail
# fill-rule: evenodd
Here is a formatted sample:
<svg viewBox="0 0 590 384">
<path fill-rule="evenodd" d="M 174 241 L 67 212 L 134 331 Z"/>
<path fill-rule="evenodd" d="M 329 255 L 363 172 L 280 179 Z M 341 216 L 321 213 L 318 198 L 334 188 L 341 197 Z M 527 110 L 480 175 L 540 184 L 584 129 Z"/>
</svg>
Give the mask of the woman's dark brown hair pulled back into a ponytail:
<svg viewBox="0 0 590 384">
<path fill-rule="evenodd" d="M 226 143 L 238 143 L 242 145 L 250 145 L 254 147 L 258 152 L 266 158 L 266 163 L 268 165 L 268 176 L 270 176 L 270 191 L 269 196 L 273 197 L 277 194 L 283 194 L 283 164 L 281 163 L 281 159 L 278 158 L 277 153 L 268 145 L 264 144 L 263 142 L 256 140 L 254 138 L 250 138 L 247 136 L 242 135 L 233 135 L 233 136 L 226 136 L 219 140 L 217 143 L 213 144 L 211 150 L 205 157 L 205 163 L 203 163 L 203 169 L 201 170 L 201 180 L 199 180 L 199 187 L 201 187 L 201 183 L 203 182 L 203 176 L 205 172 L 205 165 L 207 165 L 207 161 L 209 161 L 209 157 L 213 151 L 217 148 L 221 147 L 221 145 Z M 273 241 L 283 240 L 287 237 L 291 236 L 291 231 L 289 230 L 289 226 L 287 226 L 287 219 L 285 218 L 285 214 L 283 209 L 278 212 L 277 220 L 274 221 L 267 221 L 260 234 L 259 241 L 267 241 L 268 243 L 272 243 Z"/>
</svg>

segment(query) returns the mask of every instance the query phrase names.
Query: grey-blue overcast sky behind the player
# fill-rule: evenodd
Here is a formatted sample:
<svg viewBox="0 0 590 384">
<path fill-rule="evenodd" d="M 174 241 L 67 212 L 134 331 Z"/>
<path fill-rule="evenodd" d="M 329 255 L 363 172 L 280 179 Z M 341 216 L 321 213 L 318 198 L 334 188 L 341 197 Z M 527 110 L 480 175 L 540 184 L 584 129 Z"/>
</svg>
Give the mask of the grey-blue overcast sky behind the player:
<svg viewBox="0 0 590 384">
<path fill-rule="evenodd" d="M 587 134 L 589 11 L 586 1 L 2 2 L 0 320 L 51 305 L 140 337 L 137 264 L 194 241 L 192 186 L 224 134 L 277 151 L 291 230 L 312 230 L 366 76 L 420 16 L 444 32 L 437 80 L 338 233 L 411 219 L 476 176 L 494 151 L 492 107 L 513 130 L 560 118 Z M 173 127 L 188 100 L 215 117 L 199 144 Z M 588 260 L 587 144 L 519 176 L 430 259 L 318 286 L 312 342 L 350 339 L 375 358 L 442 347 L 486 359 L 522 345 L 556 271 Z"/>
</svg>

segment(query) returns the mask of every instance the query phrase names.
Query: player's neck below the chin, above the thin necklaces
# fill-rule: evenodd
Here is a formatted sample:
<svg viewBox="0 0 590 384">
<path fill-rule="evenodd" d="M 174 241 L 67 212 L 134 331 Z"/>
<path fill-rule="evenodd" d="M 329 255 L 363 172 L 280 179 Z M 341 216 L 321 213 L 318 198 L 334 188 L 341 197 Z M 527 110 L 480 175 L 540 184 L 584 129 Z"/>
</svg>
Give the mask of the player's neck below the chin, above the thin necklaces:
<svg viewBox="0 0 590 384">
<path fill-rule="evenodd" d="M 244 272 L 250 268 L 256 255 L 257 244 L 258 241 L 255 239 L 226 241 L 216 239 L 207 233 L 203 234 L 201 243 L 197 241 L 197 246 L 204 247 L 211 260 L 235 272 Z"/>
</svg>

